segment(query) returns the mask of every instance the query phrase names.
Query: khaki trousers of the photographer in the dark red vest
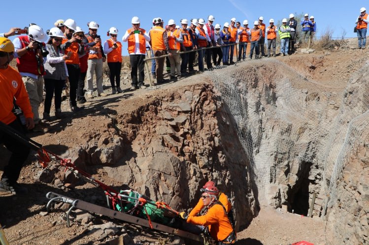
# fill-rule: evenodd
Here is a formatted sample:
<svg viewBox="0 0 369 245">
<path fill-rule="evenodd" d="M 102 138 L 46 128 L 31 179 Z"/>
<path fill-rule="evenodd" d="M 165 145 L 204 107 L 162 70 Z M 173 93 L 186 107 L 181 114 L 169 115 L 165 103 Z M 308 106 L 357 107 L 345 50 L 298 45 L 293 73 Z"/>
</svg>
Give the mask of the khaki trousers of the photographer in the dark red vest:
<svg viewBox="0 0 369 245">
<path fill-rule="evenodd" d="M 38 123 L 40 120 L 38 108 L 43 99 L 43 78 L 42 76 L 38 76 L 37 79 L 31 77 L 22 77 L 22 80 L 26 87 L 28 97 L 30 98 L 32 112 L 34 113 L 34 122 Z"/>
</svg>

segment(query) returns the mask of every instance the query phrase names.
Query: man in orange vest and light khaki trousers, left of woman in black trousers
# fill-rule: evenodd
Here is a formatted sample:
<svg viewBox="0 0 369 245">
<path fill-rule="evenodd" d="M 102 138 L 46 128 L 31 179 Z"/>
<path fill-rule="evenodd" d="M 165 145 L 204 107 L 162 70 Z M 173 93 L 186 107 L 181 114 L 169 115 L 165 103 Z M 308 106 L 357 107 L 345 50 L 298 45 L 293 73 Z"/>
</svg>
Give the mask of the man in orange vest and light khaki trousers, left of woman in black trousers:
<svg viewBox="0 0 369 245">
<path fill-rule="evenodd" d="M 98 96 L 105 97 L 104 89 L 102 88 L 102 63 L 105 62 L 106 56 L 101 45 L 101 38 L 98 35 L 99 24 L 92 21 L 87 23 L 88 33 L 86 38 L 90 52 L 88 54 L 88 69 L 87 69 L 87 98 L 93 98 L 94 91 L 94 73 L 96 74 L 96 86 L 98 88 Z"/>
</svg>

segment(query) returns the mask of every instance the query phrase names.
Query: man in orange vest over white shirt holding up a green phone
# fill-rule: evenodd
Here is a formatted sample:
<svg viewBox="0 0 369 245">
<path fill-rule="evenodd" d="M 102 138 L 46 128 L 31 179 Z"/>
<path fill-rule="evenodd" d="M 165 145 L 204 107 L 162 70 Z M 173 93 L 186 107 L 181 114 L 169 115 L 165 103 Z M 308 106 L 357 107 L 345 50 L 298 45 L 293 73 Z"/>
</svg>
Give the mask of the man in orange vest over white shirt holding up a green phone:
<svg viewBox="0 0 369 245">
<path fill-rule="evenodd" d="M 130 54 L 131 62 L 131 79 L 132 87 L 131 91 L 136 88 L 146 88 L 144 85 L 145 80 L 145 54 L 146 54 L 146 41 L 150 41 L 150 36 L 147 35 L 146 30 L 140 28 L 139 18 L 134 16 L 131 21 L 132 28 L 128 29 L 123 36 L 123 42 L 128 42 L 128 53 Z M 138 69 L 138 80 L 137 80 Z"/>
</svg>

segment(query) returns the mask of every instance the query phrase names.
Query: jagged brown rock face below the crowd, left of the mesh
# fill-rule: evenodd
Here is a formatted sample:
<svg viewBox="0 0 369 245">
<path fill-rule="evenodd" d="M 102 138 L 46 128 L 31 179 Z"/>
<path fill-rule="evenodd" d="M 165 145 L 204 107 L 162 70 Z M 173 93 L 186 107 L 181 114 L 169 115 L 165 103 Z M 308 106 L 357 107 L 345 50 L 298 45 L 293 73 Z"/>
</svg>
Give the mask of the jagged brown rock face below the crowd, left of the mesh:
<svg viewBox="0 0 369 245">
<path fill-rule="evenodd" d="M 234 118 L 212 85 L 125 103 L 134 103 L 132 110 L 99 117 L 95 132 L 83 134 L 85 143 L 66 155 L 80 166 L 102 164 L 109 178 L 177 210 L 194 207 L 203 184 L 214 180 L 234 201 L 238 224 L 249 224 L 257 214 L 250 164 Z"/>
</svg>

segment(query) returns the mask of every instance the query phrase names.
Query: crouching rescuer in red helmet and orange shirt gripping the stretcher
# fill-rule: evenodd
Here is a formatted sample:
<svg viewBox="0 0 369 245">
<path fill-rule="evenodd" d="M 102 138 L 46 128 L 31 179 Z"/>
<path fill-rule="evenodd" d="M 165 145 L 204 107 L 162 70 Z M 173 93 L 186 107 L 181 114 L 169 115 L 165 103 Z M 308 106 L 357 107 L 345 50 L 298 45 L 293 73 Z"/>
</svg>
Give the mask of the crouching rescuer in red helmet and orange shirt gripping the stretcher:
<svg viewBox="0 0 369 245">
<path fill-rule="evenodd" d="M 219 190 L 215 186 L 204 189 L 201 194 L 203 205 L 208 209 L 202 216 L 189 216 L 181 212 L 179 217 L 188 223 L 206 226 L 211 238 L 218 245 L 234 244 L 236 241 L 235 230 L 228 218 L 224 205 L 218 200 Z"/>
</svg>

